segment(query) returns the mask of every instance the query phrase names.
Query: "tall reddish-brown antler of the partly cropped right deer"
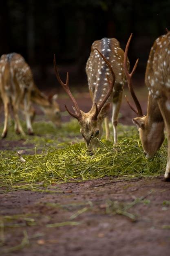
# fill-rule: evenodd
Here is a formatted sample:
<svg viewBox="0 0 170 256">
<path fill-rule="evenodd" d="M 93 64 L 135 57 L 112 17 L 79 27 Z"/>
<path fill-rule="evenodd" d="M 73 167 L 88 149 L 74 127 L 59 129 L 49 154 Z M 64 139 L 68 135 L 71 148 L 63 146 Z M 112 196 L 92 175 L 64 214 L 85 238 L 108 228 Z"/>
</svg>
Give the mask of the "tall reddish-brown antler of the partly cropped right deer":
<svg viewBox="0 0 170 256">
<path fill-rule="evenodd" d="M 132 38 L 132 34 L 130 35 L 130 38 L 128 40 L 128 43 L 126 44 L 126 49 L 125 49 L 125 53 L 124 53 L 124 72 L 125 72 L 125 75 L 126 75 L 126 79 L 127 79 L 127 82 L 128 82 L 128 88 L 130 90 L 130 93 L 132 95 L 132 98 L 135 102 L 135 105 L 137 107 L 137 110 L 129 103 L 128 99 L 126 98 L 127 102 L 128 102 L 128 105 L 130 106 L 130 108 L 139 116 L 143 116 L 143 113 L 142 113 L 142 109 L 141 109 L 141 105 L 136 97 L 136 94 L 132 88 L 132 76 L 136 70 L 136 67 L 137 67 L 137 63 L 139 61 L 139 59 L 137 59 L 136 63 L 135 63 L 135 66 L 133 67 L 132 69 L 132 72 L 129 73 L 128 72 L 128 67 L 127 67 L 127 58 L 128 58 L 128 48 L 129 48 L 129 44 L 130 44 L 130 40 Z"/>
</svg>

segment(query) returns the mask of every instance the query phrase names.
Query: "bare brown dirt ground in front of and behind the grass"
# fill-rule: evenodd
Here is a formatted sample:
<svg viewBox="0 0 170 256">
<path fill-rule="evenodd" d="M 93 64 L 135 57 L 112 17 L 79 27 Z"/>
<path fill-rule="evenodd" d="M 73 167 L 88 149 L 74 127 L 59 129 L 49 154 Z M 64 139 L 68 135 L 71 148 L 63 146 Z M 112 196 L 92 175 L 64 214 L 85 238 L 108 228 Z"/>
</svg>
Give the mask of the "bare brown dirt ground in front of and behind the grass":
<svg viewBox="0 0 170 256">
<path fill-rule="evenodd" d="M 146 97 L 142 95 L 141 103 L 146 112 Z M 88 111 L 91 107 L 88 93 L 81 93 L 77 98 L 82 109 Z M 65 102 L 71 107 L 68 99 L 61 98 L 58 101 L 62 111 Z M 135 116 L 124 100 L 120 112 L 119 121 L 132 124 L 131 118 Z M 41 118 L 42 112 L 37 109 L 36 119 Z M 69 117 L 64 116 L 62 120 L 68 121 Z M 16 146 L 22 147 L 23 142 L 23 139 L 1 139 L 0 148 L 4 150 L 8 147 L 11 150 Z M 28 144 L 29 147 L 33 145 Z M 106 177 L 80 183 L 56 184 L 50 189 L 59 192 L 20 190 L 0 193 L 0 215 L 22 215 L 5 223 L 5 246 L 4 251 L 0 247 L 0 255 L 170 254 L 170 183 L 163 182 L 163 177 L 137 180 L 124 178 L 121 181 L 116 177 Z M 23 216 L 32 218 L 32 222 Z M 48 226 L 55 223 L 57 226 L 62 223 L 62 226 Z M 18 246 L 14 252 L 5 251 L 5 248 L 13 246 Z"/>
</svg>

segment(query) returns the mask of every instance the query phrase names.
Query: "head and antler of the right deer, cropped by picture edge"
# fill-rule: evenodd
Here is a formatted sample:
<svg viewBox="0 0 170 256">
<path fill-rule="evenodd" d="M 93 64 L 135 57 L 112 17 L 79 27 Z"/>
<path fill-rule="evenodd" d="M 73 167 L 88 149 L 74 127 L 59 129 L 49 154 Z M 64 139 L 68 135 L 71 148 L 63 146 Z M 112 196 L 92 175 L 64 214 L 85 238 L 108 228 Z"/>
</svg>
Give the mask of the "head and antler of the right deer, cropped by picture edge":
<svg viewBox="0 0 170 256">
<path fill-rule="evenodd" d="M 135 105 L 137 109 L 135 109 L 128 101 L 126 98 L 128 105 L 130 108 L 137 114 L 138 117 L 133 118 L 132 121 L 133 123 L 137 126 L 139 130 L 139 136 L 141 139 L 141 144 L 144 149 L 144 154 L 147 158 L 152 158 L 154 157 L 155 153 L 157 150 L 161 147 L 161 144 L 163 143 L 164 140 L 164 124 L 163 124 L 163 119 L 161 115 L 159 115 L 159 107 L 157 105 L 157 102 L 153 97 L 149 95 L 148 97 L 148 109 L 150 107 L 152 108 L 152 113 L 150 115 L 150 112 L 147 111 L 147 115 L 143 115 L 141 105 L 135 95 L 135 92 L 132 88 L 132 75 L 134 74 L 138 59 L 135 63 L 135 66 L 133 67 L 132 72 L 129 74 L 128 69 L 127 69 L 127 56 L 128 56 L 128 47 L 130 44 L 130 40 L 132 38 L 132 34 L 130 35 L 130 38 L 128 40 L 128 43 L 126 45 L 125 49 L 125 54 L 124 54 L 124 70 L 125 70 L 125 75 L 126 79 L 128 82 L 128 88 L 130 90 L 130 93 L 132 95 L 132 98 L 135 102 Z"/>
</svg>

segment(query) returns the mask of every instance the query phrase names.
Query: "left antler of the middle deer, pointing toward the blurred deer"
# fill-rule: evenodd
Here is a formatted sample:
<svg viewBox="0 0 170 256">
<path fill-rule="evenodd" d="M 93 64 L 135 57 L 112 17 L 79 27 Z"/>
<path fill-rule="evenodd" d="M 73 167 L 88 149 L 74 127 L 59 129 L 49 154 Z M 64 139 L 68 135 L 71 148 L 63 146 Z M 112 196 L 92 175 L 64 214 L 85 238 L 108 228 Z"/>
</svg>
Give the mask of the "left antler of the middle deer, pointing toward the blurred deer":
<svg viewBox="0 0 170 256">
<path fill-rule="evenodd" d="M 55 70 L 55 74 L 57 76 L 57 80 L 58 82 L 60 83 L 60 85 L 62 85 L 62 88 L 65 90 L 65 92 L 68 94 L 68 96 L 70 97 L 70 99 L 73 101 L 73 104 L 75 106 L 75 110 L 76 110 L 76 114 L 71 112 L 70 110 L 68 110 L 66 104 L 64 105 L 66 110 L 68 111 L 68 113 L 72 116 L 72 117 L 75 117 L 77 118 L 78 121 L 80 121 L 82 119 L 82 114 L 81 114 L 81 111 L 79 109 L 79 106 L 75 100 L 75 98 L 73 97 L 70 89 L 69 89 L 69 77 L 68 77 L 68 72 L 67 72 L 67 76 L 66 76 L 66 83 L 63 83 L 61 78 L 60 78 L 60 75 L 59 75 L 59 72 L 57 70 L 57 65 L 56 65 L 56 61 L 55 61 L 55 54 L 54 54 L 54 70 Z"/>
</svg>

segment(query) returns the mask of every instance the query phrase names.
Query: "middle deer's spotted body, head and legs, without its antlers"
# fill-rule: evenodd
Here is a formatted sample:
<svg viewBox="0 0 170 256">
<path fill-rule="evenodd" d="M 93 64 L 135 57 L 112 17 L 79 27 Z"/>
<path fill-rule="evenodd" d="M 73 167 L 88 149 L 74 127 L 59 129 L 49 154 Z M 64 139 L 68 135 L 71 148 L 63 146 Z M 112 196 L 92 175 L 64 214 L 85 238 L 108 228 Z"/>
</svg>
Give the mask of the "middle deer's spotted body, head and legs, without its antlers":
<svg viewBox="0 0 170 256">
<path fill-rule="evenodd" d="M 115 85 L 113 93 L 106 101 L 104 107 L 97 117 L 97 121 L 93 121 L 92 117 L 95 112 L 95 103 L 99 106 L 99 103 L 104 99 L 108 90 L 108 82 L 106 74 L 108 74 L 111 80 L 111 74 L 108 66 L 97 53 L 96 48 L 106 57 L 115 73 Z M 117 122 L 118 114 L 121 105 L 122 91 L 124 89 L 124 83 L 126 82 L 123 68 L 124 51 L 120 48 L 119 42 L 115 38 L 103 38 L 95 41 L 91 47 L 91 54 L 86 63 L 86 74 L 88 78 L 88 87 L 93 101 L 93 106 L 90 112 L 82 113 L 82 120 L 79 121 L 81 126 L 80 131 L 86 142 L 86 147 L 89 151 L 99 146 L 99 140 L 102 137 L 103 128 L 102 123 L 105 119 L 106 127 L 106 139 L 109 138 L 109 127 L 108 127 L 108 113 L 109 106 L 113 104 L 113 116 L 112 124 L 114 129 L 114 143 L 117 142 Z M 128 62 L 129 67 L 129 62 Z M 108 104 L 110 103 L 110 104 Z M 99 134 L 95 135 L 98 130 Z"/>
</svg>

